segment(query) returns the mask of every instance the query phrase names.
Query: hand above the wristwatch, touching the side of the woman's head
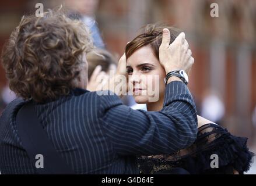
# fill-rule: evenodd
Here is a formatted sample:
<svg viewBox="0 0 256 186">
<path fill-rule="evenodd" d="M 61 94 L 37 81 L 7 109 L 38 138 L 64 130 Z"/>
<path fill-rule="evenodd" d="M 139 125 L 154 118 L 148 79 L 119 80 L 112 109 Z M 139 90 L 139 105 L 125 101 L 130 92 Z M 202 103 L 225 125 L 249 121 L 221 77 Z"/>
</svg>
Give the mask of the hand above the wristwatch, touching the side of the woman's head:
<svg viewBox="0 0 256 186">
<path fill-rule="evenodd" d="M 185 70 L 189 73 L 194 58 L 192 58 L 191 50 L 188 48 L 188 42 L 185 40 L 185 34 L 180 33 L 178 37 L 170 43 L 170 31 L 163 29 L 162 44 L 159 47 L 159 60 L 163 65 L 166 74 L 173 70 Z"/>
</svg>

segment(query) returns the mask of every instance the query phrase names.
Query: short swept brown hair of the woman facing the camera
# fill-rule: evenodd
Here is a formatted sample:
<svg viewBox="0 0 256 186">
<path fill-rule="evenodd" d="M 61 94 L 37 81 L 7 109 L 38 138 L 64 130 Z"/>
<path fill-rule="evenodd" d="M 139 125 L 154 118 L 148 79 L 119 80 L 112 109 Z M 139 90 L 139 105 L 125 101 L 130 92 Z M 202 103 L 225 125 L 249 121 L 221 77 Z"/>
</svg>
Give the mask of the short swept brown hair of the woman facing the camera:
<svg viewBox="0 0 256 186">
<path fill-rule="evenodd" d="M 171 34 L 170 44 L 175 40 L 178 34 L 181 33 L 177 28 L 164 26 L 163 24 L 147 24 L 142 27 L 143 33 L 135 37 L 131 42 L 129 42 L 125 47 L 126 59 L 128 59 L 132 53 L 141 47 L 150 45 L 156 58 L 159 60 L 159 47 L 162 43 L 163 28 L 168 28 Z"/>
</svg>

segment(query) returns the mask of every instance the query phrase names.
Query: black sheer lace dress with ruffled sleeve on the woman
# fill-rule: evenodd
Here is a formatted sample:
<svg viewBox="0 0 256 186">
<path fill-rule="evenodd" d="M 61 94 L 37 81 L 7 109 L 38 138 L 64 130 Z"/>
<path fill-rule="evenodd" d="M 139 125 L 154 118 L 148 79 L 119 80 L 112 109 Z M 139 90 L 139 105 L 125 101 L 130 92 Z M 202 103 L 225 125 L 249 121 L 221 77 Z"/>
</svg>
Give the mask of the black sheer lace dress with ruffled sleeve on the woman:
<svg viewBox="0 0 256 186">
<path fill-rule="evenodd" d="M 253 156 L 247 148 L 247 138 L 236 137 L 216 124 L 205 124 L 198 128 L 197 140 L 188 148 L 172 155 L 142 156 L 137 160 L 141 174 L 166 174 L 176 167 L 190 174 L 233 174 L 234 170 L 243 174 L 250 169 Z"/>
</svg>

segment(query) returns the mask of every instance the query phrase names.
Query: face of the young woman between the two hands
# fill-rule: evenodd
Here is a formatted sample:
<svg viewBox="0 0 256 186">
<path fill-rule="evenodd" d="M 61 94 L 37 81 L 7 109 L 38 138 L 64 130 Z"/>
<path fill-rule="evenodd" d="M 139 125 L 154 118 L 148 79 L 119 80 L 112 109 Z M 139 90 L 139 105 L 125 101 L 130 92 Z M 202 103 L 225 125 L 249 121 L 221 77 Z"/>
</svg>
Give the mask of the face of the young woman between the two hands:
<svg viewBox="0 0 256 186">
<path fill-rule="evenodd" d="M 127 59 L 129 91 L 136 103 L 156 102 L 164 96 L 166 73 L 147 45 Z"/>
</svg>

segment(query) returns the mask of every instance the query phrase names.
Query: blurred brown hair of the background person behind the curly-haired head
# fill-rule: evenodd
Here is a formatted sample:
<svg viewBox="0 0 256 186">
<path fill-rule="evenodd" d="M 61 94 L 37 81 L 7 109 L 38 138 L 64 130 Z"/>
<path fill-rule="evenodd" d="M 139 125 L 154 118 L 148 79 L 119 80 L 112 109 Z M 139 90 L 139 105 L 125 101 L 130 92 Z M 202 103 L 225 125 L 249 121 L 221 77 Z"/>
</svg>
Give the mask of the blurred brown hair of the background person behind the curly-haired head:
<svg viewBox="0 0 256 186">
<path fill-rule="evenodd" d="M 117 66 L 117 59 L 111 55 L 110 52 L 104 49 L 94 49 L 92 52 L 87 53 L 86 59 L 88 62 L 88 78 L 92 76 L 93 70 L 96 66 L 100 65 L 101 70 L 108 71 L 110 70 L 110 65 L 113 64 Z"/>
</svg>

